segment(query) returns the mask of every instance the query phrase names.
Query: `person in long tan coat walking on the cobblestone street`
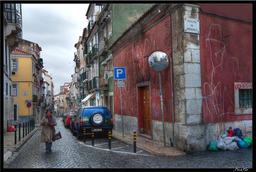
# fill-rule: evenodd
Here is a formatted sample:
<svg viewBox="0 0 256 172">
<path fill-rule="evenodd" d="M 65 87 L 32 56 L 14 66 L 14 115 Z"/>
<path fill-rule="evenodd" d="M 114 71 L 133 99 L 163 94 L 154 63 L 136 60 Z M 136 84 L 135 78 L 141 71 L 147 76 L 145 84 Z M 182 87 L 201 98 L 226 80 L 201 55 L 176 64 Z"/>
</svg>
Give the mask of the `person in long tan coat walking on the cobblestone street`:
<svg viewBox="0 0 256 172">
<path fill-rule="evenodd" d="M 52 110 L 46 110 L 46 116 L 41 119 L 40 125 L 43 126 L 41 130 L 41 142 L 46 143 L 46 151 L 52 151 L 52 139 L 53 134 L 55 134 L 55 125 L 57 125 L 55 117 L 52 115 Z"/>
</svg>

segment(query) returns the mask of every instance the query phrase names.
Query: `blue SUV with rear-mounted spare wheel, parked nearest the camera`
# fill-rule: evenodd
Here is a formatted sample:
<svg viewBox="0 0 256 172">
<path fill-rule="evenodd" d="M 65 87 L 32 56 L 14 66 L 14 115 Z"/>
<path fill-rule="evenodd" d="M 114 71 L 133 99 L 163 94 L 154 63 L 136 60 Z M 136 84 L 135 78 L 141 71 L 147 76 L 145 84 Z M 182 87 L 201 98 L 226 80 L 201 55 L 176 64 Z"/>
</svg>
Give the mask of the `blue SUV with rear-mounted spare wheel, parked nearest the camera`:
<svg viewBox="0 0 256 172">
<path fill-rule="evenodd" d="M 84 135 L 94 134 L 108 136 L 108 131 L 113 129 L 113 116 L 110 110 L 105 106 L 84 106 L 78 109 L 73 116 L 73 125 L 71 132 L 79 139 Z"/>
</svg>

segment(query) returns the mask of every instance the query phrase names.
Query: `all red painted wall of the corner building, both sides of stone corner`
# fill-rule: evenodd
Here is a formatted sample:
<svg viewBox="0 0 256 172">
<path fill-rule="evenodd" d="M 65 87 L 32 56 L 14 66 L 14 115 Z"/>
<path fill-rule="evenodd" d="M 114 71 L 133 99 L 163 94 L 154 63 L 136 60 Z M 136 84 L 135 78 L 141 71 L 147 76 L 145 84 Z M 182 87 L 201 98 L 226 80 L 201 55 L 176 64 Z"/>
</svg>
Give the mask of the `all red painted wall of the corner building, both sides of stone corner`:
<svg viewBox="0 0 256 172">
<path fill-rule="evenodd" d="M 200 4 L 200 7 L 204 12 L 247 22 L 252 20 L 252 5 Z M 240 11 L 237 11 L 238 9 Z M 159 16 L 146 25 L 152 24 L 157 18 Z M 252 120 L 251 114 L 234 115 L 233 88 L 234 82 L 252 83 L 252 25 L 205 14 L 199 14 L 199 20 L 203 122 Z M 130 37 L 129 40 L 133 38 Z M 136 84 L 141 83 L 143 79 L 151 84 L 152 120 L 162 121 L 158 72 L 149 67 L 148 57 L 143 57 L 149 56 L 155 50 L 162 50 L 170 57 L 169 16 L 127 47 L 123 48 L 124 44 L 126 43 L 122 43 L 113 51 L 113 67 L 126 67 L 126 79 L 123 80 L 125 87 L 121 87 L 123 115 L 139 116 L 139 108 L 142 107 L 137 106 Z M 119 51 L 120 48 L 123 49 Z M 165 122 L 172 122 L 170 62 L 167 69 L 161 72 L 161 79 Z M 115 113 L 121 114 L 120 88 L 117 85 L 114 85 L 114 103 Z"/>
</svg>

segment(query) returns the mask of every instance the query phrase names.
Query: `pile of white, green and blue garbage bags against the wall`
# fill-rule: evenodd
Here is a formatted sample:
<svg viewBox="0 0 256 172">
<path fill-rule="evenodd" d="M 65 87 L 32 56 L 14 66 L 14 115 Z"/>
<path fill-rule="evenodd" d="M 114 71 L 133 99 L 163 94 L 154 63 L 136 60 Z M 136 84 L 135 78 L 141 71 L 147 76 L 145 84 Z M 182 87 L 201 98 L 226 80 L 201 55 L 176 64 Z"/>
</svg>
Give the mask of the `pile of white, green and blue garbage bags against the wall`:
<svg viewBox="0 0 256 172">
<path fill-rule="evenodd" d="M 252 137 L 245 137 L 242 135 L 242 131 L 239 128 L 232 129 L 229 127 L 229 130 L 219 136 L 218 141 L 210 141 L 208 146 L 209 151 L 218 151 L 218 150 L 229 150 L 235 151 L 239 148 L 248 148 L 252 145 Z"/>
</svg>

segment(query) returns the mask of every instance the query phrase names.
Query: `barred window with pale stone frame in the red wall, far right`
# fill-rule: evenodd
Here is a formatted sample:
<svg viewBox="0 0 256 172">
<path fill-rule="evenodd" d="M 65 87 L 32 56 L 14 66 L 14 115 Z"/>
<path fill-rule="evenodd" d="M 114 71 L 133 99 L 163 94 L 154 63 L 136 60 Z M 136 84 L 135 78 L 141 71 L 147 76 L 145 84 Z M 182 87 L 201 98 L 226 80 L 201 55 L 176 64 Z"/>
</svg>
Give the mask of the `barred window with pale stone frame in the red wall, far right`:
<svg viewBox="0 0 256 172">
<path fill-rule="evenodd" d="M 235 115 L 252 114 L 252 83 L 235 82 Z"/>
</svg>

